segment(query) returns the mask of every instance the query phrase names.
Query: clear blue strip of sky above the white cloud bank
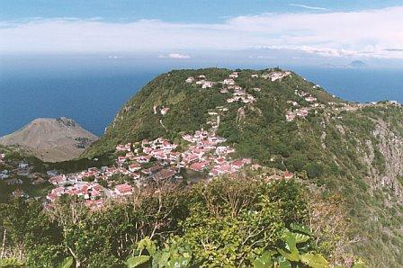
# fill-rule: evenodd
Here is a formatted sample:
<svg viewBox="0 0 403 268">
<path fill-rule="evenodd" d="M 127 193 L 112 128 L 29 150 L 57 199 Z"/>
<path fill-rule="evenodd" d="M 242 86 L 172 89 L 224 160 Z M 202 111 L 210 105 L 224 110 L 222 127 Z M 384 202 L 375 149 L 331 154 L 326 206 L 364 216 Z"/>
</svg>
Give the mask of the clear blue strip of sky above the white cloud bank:
<svg viewBox="0 0 403 268">
<path fill-rule="evenodd" d="M 348 12 L 402 5 L 403 1 L 337 0 L 2 0 L 0 20 L 30 18 L 101 18 L 108 22 L 158 19 L 167 22 L 223 22 L 238 15 L 260 13 Z M 304 7 L 305 6 L 305 7 Z M 312 7 L 312 8 L 309 8 Z"/>
</svg>

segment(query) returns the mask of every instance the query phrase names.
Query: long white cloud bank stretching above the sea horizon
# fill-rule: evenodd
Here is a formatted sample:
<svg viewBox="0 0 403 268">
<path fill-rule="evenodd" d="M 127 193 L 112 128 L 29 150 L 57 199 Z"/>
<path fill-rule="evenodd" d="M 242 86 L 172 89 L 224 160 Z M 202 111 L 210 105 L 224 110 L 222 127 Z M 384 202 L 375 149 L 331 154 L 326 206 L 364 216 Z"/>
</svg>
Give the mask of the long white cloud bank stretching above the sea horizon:
<svg viewBox="0 0 403 268">
<path fill-rule="evenodd" d="M 345 13 L 263 13 L 222 23 L 36 19 L 0 22 L 0 53 L 291 49 L 326 57 L 403 58 L 403 6 Z"/>
</svg>

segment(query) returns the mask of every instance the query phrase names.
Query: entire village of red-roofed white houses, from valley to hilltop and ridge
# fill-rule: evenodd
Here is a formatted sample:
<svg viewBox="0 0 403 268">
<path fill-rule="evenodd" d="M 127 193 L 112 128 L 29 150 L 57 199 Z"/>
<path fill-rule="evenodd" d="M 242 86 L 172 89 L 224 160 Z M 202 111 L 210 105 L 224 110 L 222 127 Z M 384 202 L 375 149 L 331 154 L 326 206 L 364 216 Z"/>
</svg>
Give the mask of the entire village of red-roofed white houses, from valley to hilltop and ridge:
<svg viewBox="0 0 403 268">
<path fill-rule="evenodd" d="M 270 81 L 278 81 L 291 72 L 273 71 L 267 74 L 251 75 L 252 78 L 262 77 Z M 206 76 L 188 77 L 184 82 L 201 86 L 202 89 L 213 85 L 222 85 L 219 89 L 221 94 L 232 93 L 227 103 L 241 102 L 253 104 L 255 96 L 247 94 L 246 90 L 237 85 L 238 72 L 231 73 L 228 78 L 220 82 L 206 79 Z M 320 88 L 314 85 L 313 90 Z M 253 88 L 260 92 L 261 88 Z M 380 105 L 380 103 L 335 103 L 327 105 L 318 103 L 317 97 L 299 89 L 294 90 L 298 102 L 289 100 L 290 108 L 285 112 L 285 121 L 295 121 L 308 116 L 309 112 L 328 108 L 330 112 L 355 111 L 368 106 Z M 399 105 L 396 102 L 388 104 Z M 156 114 L 157 106 L 153 107 Z M 159 112 L 164 116 L 169 108 L 163 106 Z M 144 139 L 138 142 L 120 144 L 115 147 L 115 163 L 112 166 L 100 168 L 91 167 L 85 171 L 74 174 L 59 174 L 57 171 L 48 171 L 49 180 L 44 179 L 38 173 L 31 172 L 31 166 L 23 161 L 18 166 L 9 166 L 8 169 L 0 170 L 0 181 L 8 185 L 22 184 L 21 176 L 31 179 L 31 184 L 51 183 L 53 188 L 46 196 L 46 204 L 49 205 L 62 195 L 77 196 L 85 200 L 85 204 L 92 210 L 103 208 L 107 199 L 120 199 L 130 196 L 136 189 L 147 187 L 150 183 L 192 183 L 192 176 L 197 180 L 210 180 L 219 175 L 232 175 L 240 172 L 244 167 L 258 168 L 260 165 L 253 164 L 250 158 L 233 158 L 235 148 L 226 145 L 226 138 L 216 136 L 219 129 L 220 114 L 228 112 L 228 107 L 218 106 L 209 112 L 210 130 L 196 130 L 182 136 L 182 149 L 166 138 L 154 140 Z M 329 113 L 330 114 L 330 113 Z M 337 118 L 337 117 L 336 117 Z M 163 121 L 160 121 L 164 126 Z M 0 154 L 0 164 L 4 165 L 4 154 Z M 18 176 L 14 176 L 14 175 Z M 197 175 L 194 175 L 197 174 Z M 284 173 L 271 179 L 291 178 L 293 174 Z M 191 181 L 189 181 L 191 179 Z M 197 181 L 196 180 L 196 181 Z M 17 190 L 13 197 L 29 198 L 26 192 Z"/>
</svg>

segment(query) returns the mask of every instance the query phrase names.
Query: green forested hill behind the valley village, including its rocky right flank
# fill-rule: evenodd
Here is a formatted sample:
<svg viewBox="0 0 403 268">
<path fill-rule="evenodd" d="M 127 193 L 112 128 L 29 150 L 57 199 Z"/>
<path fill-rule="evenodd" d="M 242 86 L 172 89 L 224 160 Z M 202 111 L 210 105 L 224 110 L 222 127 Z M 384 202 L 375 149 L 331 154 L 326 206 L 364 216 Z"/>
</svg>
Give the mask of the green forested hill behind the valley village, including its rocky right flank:
<svg viewBox="0 0 403 268">
<path fill-rule="evenodd" d="M 175 70 L 131 98 L 83 156 L 144 138 L 181 144 L 201 129 L 227 138 L 239 156 L 306 173 L 323 194 L 340 194 L 354 254 L 373 266 L 403 265 L 399 103 L 347 103 L 277 68 Z"/>
</svg>

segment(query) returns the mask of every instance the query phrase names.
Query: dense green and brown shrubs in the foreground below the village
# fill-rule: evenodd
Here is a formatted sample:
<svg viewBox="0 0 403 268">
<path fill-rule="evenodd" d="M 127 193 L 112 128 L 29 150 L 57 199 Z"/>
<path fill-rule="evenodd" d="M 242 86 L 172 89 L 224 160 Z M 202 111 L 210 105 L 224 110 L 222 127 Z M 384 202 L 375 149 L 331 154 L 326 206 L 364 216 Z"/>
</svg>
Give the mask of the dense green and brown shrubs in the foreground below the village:
<svg viewBox="0 0 403 268">
<path fill-rule="evenodd" d="M 69 257 L 76 266 L 122 267 L 148 239 L 156 251 L 175 251 L 198 266 L 251 266 L 268 261 L 268 254 L 302 262 L 295 255 L 318 253 L 313 234 L 301 227 L 309 224 L 305 194 L 295 181 L 220 178 L 191 189 L 136 192 L 100 211 L 67 197 L 45 210 L 36 201 L 14 200 L 0 208 L 2 255 L 32 267 L 56 267 Z M 302 243 L 300 253 L 292 243 Z"/>
</svg>

